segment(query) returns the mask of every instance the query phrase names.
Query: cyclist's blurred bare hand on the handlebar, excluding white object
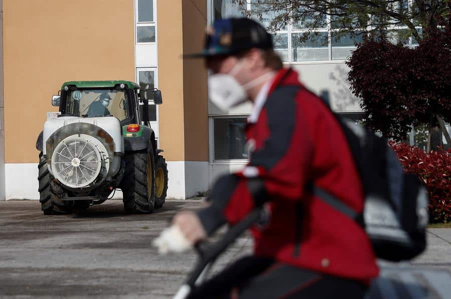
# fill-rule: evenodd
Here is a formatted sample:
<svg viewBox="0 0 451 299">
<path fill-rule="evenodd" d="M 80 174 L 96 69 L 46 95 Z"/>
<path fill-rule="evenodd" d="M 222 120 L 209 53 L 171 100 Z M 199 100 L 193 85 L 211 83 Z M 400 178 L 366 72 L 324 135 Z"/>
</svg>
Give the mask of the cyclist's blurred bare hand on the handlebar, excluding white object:
<svg viewBox="0 0 451 299">
<path fill-rule="evenodd" d="M 180 228 L 183 235 L 192 245 L 207 237 L 199 217 L 194 212 L 184 211 L 177 213 L 172 219 L 172 224 Z"/>
</svg>

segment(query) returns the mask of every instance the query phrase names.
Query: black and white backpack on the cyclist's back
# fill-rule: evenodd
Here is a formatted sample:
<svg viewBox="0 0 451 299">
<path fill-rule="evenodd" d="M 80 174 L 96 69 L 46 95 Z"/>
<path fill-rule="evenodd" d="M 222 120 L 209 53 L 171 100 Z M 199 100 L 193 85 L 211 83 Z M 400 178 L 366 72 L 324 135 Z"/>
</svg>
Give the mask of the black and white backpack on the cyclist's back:
<svg viewBox="0 0 451 299">
<path fill-rule="evenodd" d="M 377 257 L 409 260 L 426 247 L 428 196 L 416 175 L 406 174 L 394 150 L 364 126 L 331 113 L 340 124 L 361 178 L 364 208 L 358 213 L 312 184 L 312 192 L 365 229 Z"/>
</svg>

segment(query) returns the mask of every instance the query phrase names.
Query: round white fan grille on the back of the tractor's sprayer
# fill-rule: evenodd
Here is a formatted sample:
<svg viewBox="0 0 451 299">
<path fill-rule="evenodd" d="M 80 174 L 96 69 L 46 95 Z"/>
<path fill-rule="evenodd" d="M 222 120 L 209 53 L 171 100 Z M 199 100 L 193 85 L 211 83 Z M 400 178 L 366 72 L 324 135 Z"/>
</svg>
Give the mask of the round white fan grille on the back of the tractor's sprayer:
<svg viewBox="0 0 451 299">
<path fill-rule="evenodd" d="M 99 175 L 101 168 L 102 159 L 97 146 L 84 138 L 66 138 L 53 153 L 53 173 L 69 187 L 89 185 Z"/>
</svg>

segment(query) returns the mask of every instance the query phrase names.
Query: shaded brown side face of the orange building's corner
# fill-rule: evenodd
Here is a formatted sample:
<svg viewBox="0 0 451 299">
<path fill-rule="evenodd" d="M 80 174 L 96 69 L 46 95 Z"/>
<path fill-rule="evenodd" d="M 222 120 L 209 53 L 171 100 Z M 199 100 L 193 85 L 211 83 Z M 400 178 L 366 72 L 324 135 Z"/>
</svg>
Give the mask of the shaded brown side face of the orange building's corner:
<svg viewBox="0 0 451 299">
<path fill-rule="evenodd" d="M 206 1 L 183 1 L 183 52 L 199 52 L 204 43 Z M 185 159 L 208 161 L 207 72 L 203 59 L 183 60 Z"/>
</svg>

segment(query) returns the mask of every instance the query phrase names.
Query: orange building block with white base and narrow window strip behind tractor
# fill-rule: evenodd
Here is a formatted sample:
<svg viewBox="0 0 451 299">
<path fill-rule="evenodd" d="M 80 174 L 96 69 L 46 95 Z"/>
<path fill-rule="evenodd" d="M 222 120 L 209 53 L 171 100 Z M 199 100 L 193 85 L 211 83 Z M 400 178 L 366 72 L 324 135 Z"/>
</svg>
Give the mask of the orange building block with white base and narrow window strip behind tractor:
<svg viewBox="0 0 451 299">
<path fill-rule="evenodd" d="M 150 100 L 149 114 L 168 161 L 168 197 L 208 189 L 206 71 L 202 61 L 181 58 L 202 47 L 206 7 L 205 0 L 4 0 L 0 199 L 39 198 L 36 139 L 47 112 L 57 111 L 52 95 L 69 80 L 161 89 L 164 103 Z"/>
</svg>

